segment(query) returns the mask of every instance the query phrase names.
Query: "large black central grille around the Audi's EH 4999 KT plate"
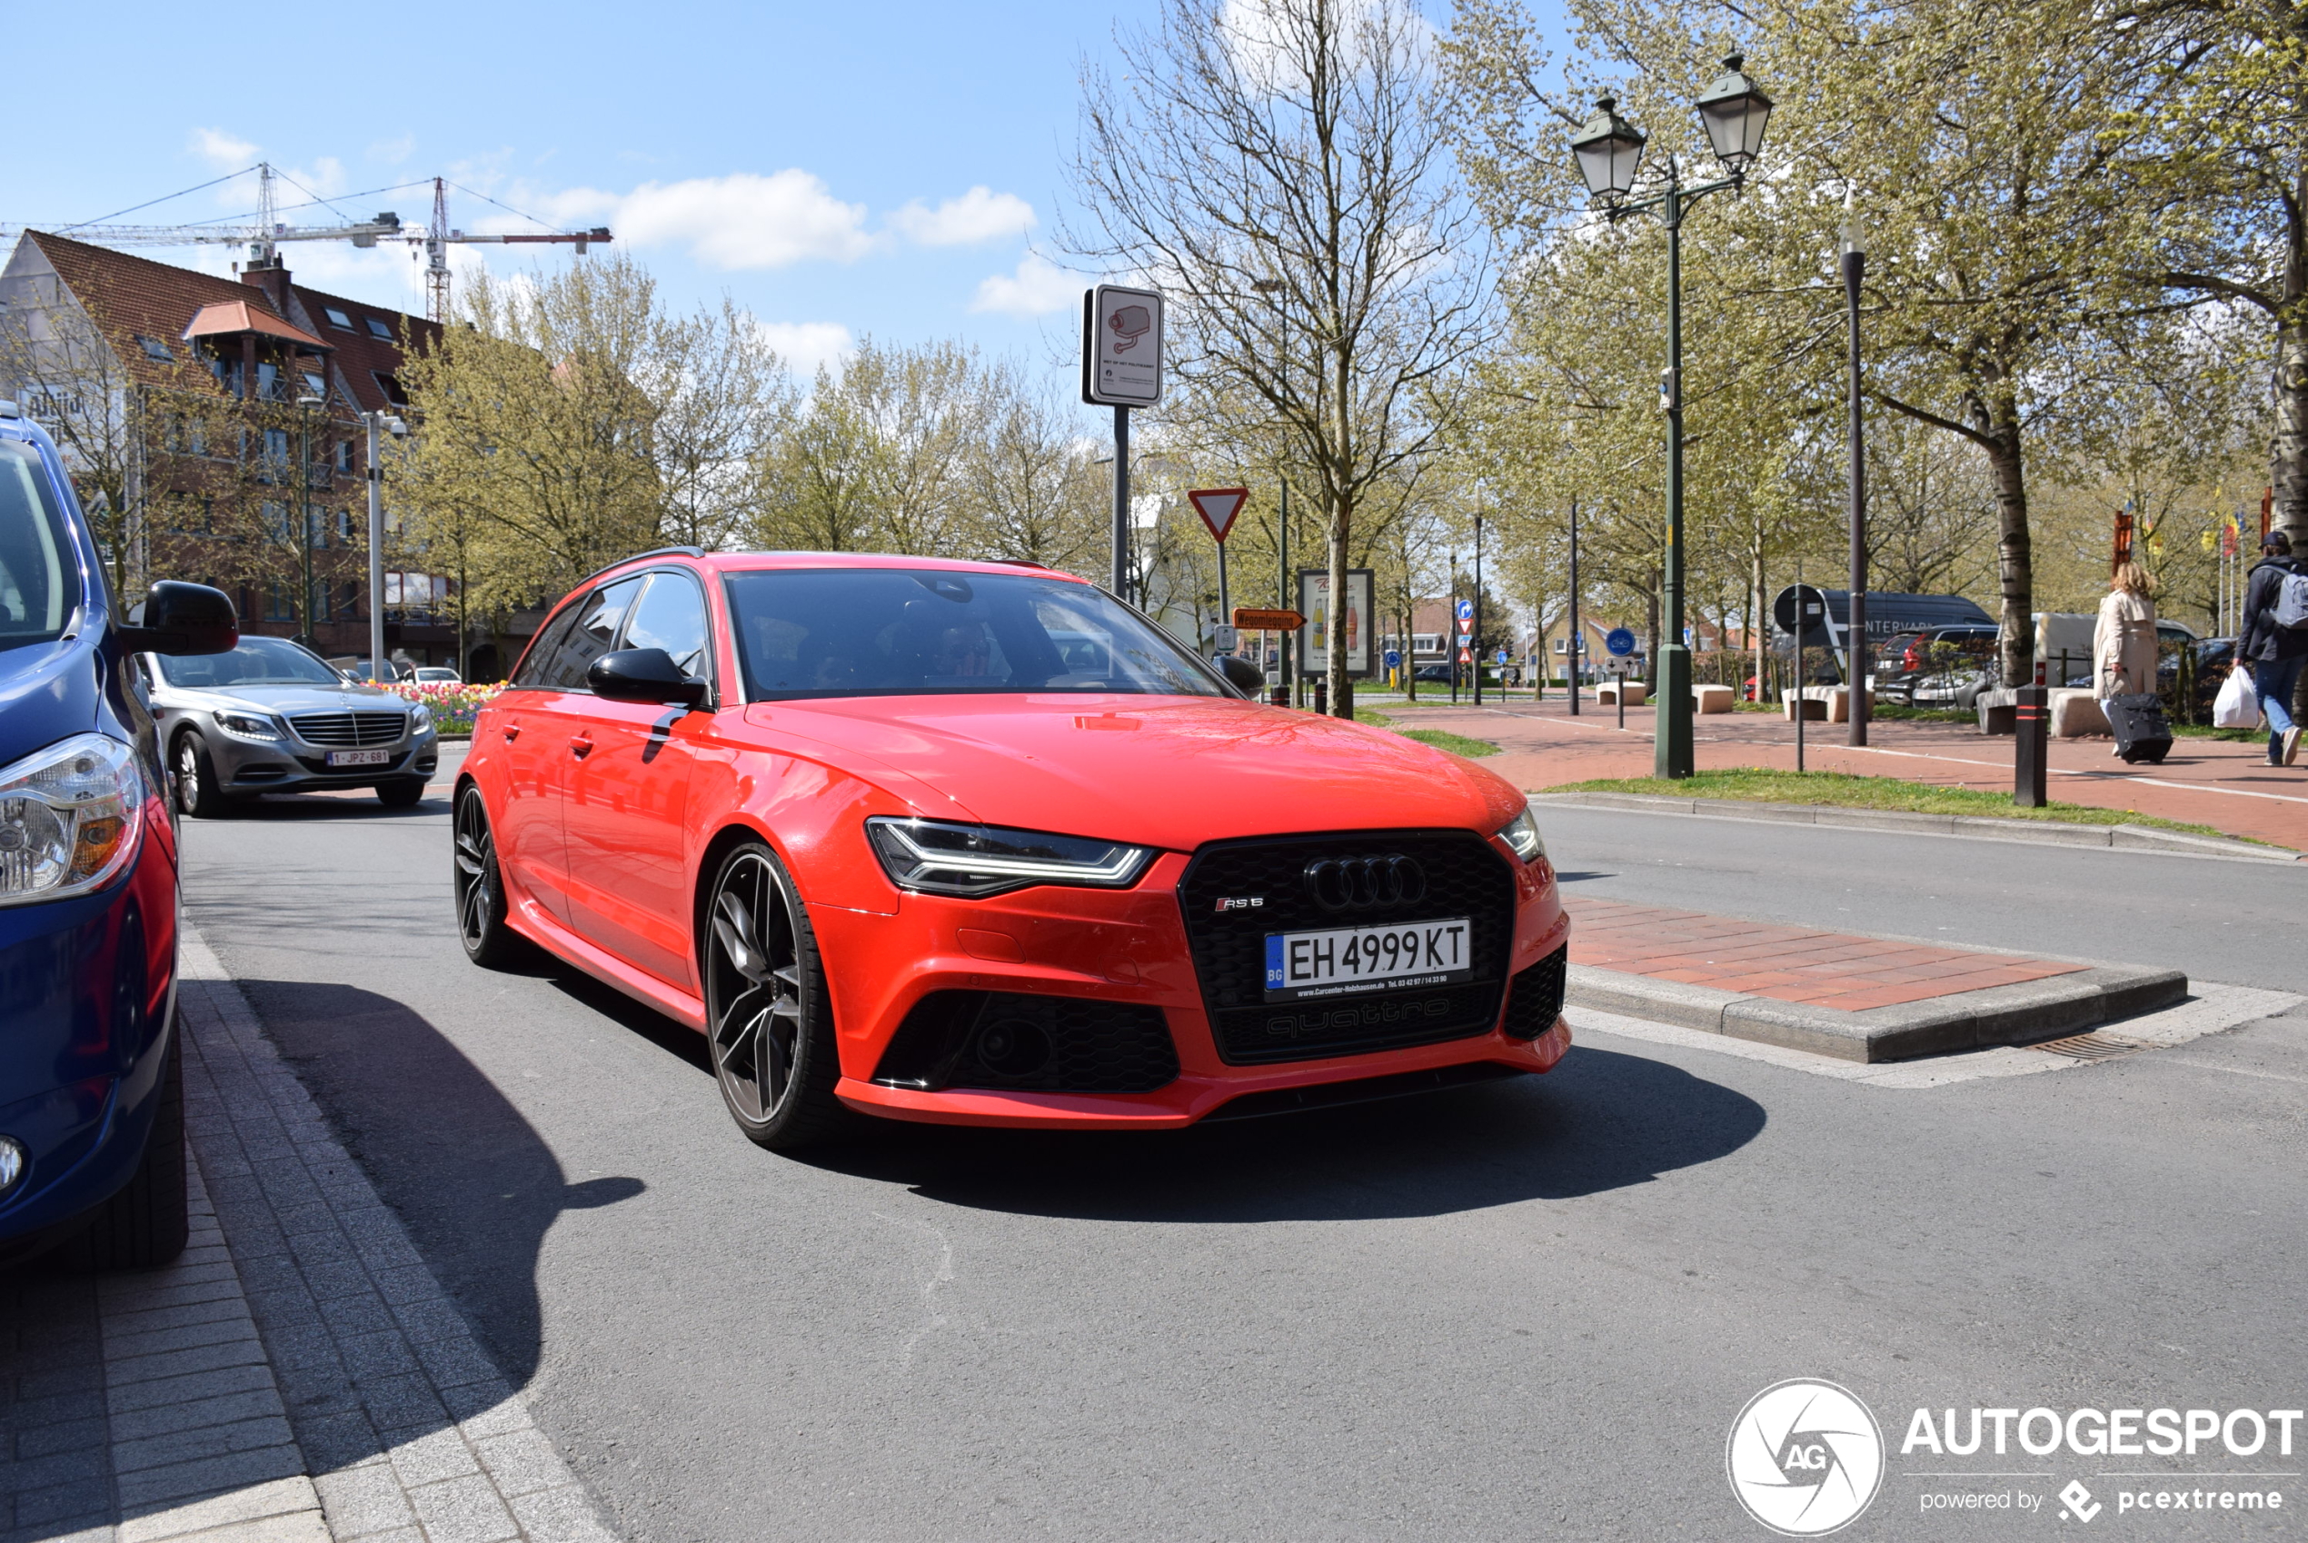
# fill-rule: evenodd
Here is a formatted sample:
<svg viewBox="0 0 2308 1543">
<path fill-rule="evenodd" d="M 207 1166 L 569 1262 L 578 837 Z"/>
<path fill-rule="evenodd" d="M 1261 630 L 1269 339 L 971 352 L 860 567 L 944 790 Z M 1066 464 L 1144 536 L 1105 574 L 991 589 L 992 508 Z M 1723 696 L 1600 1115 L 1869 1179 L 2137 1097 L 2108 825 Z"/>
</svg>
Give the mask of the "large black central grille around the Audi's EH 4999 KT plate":
<svg viewBox="0 0 2308 1543">
<path fill-rule="evenodd" d="M 1419 900 L 1341 913 L 1322 909 L 1306 888 L 1309 863 L 1392 856 L 1419 865 Z M 1177 895 L 1209 1029 L 1219 1056 L 1232 1066 L 1436 1045 L 1489 1033 L 1498 1022 L 1514 941 L 1514 872 L 1468 830 L 1346 830 L 1221 842 L 1196 853 Z M 1221 900 L 1260 904 L 1219 911 Z M 1322 1001 L 1265 1001 L 1269 932 L 1447 916 L 1473 920 L 1473 980 Z"/>
</svg>

